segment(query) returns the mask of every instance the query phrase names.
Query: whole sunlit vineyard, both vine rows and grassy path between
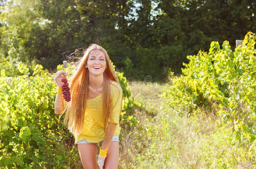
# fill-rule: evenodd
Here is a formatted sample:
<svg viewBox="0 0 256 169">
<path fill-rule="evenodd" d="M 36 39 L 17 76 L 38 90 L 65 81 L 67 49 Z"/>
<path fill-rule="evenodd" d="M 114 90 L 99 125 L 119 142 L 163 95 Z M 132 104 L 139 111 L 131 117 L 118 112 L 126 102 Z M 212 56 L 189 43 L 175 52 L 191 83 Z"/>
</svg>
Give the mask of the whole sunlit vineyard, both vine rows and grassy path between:
<svg viewBox="0 0 256 169">
<path fill-rule="evenodd" d="M 213 41 L 187 56 L 180 76 L 170 69 L 169 83 L 146 83 L 161 89 L 153 93 L 135 96 L 138 83 L 116 71 L 124 96 L 119 168 L 256 167 L 255 40 L 249 32 L 235 50 Z M 0 168 L 82 167 L 54 113 L 53 77 L 34 62 L 1 58 Z"/>
</svg>

